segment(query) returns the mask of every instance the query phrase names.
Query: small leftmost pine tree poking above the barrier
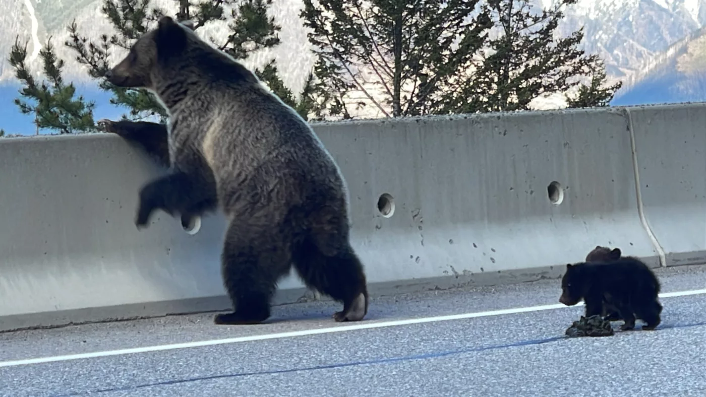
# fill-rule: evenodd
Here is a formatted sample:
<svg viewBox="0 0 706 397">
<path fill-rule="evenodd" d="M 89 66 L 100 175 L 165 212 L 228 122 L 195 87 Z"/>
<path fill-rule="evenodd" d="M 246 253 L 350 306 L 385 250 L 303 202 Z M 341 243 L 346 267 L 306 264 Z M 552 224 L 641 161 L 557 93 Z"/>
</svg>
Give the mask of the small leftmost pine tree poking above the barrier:
<svg viewBox="0 0 706 397">
<path fill-rule="evenodd" d="M 64 61 L 56 59 L 52 38 L 49 37 L 47 45 L 40 50 L 40 57 L 44 63 L 44 75 L 48 82 L 37 83 L 32 76 L 27 64 L 27 42 L 20 45 L 16 37 L 15 44 L 10 52 L 10 64 L 15 68 L 15 76 L 22 83 L 20 96 L 31 99 L 35 104 L 28 104 L 19 98 L 15 104 L 23 114 L 34 114 L 37 133 L 40 128 L 58 130 L 61 134 L 94 132 L 93 102 L 86 102 L 82 96 L 74 99 L 76 87 L 73 83 L 64 83 L 61 70 Z"/>
</svg>

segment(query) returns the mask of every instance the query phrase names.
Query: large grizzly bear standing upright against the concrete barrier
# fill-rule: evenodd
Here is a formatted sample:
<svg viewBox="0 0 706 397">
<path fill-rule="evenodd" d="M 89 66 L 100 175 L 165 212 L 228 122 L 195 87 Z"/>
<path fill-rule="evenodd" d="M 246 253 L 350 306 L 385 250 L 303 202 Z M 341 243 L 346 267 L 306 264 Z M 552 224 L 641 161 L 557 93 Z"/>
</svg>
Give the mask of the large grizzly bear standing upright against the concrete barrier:
<svg viewBox="0 0 706 397">
<path fill-rule="evenodd" d="M 337 322 L 365 317 L 368 291 L 349 240 L 347 186 L 294 109 L 167 16 L 106 77 L 154 92 L 169 113 L 169 173 L 140 190 L 138 228 L 157 209 L 183 219 L 217 207 L 227 218 L 221 269 L 234 312 L 218 314 L 216 324 L 268 319 L 277 281 L 292 264 L 309 288 L 343 303 Z"/>
</svg>

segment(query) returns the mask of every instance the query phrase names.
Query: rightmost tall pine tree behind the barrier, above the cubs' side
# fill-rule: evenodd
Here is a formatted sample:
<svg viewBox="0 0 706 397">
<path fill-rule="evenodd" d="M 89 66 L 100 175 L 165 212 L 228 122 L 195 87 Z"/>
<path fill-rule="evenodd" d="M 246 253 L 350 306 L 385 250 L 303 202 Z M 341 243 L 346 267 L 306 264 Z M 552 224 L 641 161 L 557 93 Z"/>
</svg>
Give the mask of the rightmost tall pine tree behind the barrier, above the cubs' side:
<svg viewBox="0 0 706 397">
<path fill-rule="evenodd" d="M 562 9 L 577 1 L 561 0 L 538 12 L 528 0 L 486 0 L 499 34 L 488 41 L 491 54 L 465 82 L 453 112 L 527 110 L 535 98 L 567 92 L 582 75 L 601 70 L 597 56 L 578 49 L 583 28 L 554 39 Z M 612 98 L 613 88 L 602 93 L 604 99 Z"/>
</svg>

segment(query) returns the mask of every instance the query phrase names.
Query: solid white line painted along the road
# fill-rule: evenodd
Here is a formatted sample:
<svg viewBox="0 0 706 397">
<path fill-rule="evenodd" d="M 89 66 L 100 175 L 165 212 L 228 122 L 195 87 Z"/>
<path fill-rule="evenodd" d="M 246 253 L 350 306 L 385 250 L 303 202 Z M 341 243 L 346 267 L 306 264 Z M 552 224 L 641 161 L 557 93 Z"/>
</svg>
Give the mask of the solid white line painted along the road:
<svg viewBox="0 0 706 397">
<path fill-rule="evenodd" d="M 678 292 L 661 293 L 661 294 L 659 294 L 659 297 L 660 298 L 672 298 L 675 296 L 700 295 L 700 294 L 705 294 L 705 293 L 706 293 L 706 289 L 693 290 L 693 291 L 678 291 Z M 582 305 L 583 305 L 583 303 L 579 303 L 578 305 L 573 306 L 573 307 L 578 307 L 578 306 L 582 306 Z M 472 318 L 476 318 L 476 317 L 490 317 L 490 316 L 500 316 L 503 314 L 539 312 L 542 310 L 554 310 L 554 309 L 561 309 L 561 308 L 568 308 L 568 306 L 562 305 L 561 303 L 557 303 L 555 305 L 515 307 L 513 309 L 490 310 L 488 312 L 451 314 L 448 316 L 423 317 L 423 318 L 419 318 L 419 319 L 405 319 L 405 320 L 395 320 L 395 321 L 388 321 L 388 322 L 363 322 L 363 323 L 345 325 L 345 326 L 332 326 L 330 328 L 304 329 L 301 331 L 279 332 L 277 334 L 239 336 L 237 338 L 213 339 L 210 341 L 198 341 L 198 342 L 186 342 L 186 343 L 174 343 L 174 344 L 170 344 L 170 345 L 147 346 L 147 347 L 143 347 L 143 348 L 107 350 L 107 351 L 98 351 L 98 352 L 92 352 L 92 353 L 80 353 L 80 354 L 71 354 L 71 355 L 55 355 L 52 357 L 28 358 L 26 360 L 1 361 L 0 367 L 16 367 L 18 365 L 40 364 L 42 362 L 80 360 L 82 358 L 97 358 L 97 357 L 107 357 L 109 355 L 126 355 L 126 354 L 133 354 L 133 353 L 147 353 L 147 352 L 160 351 L 160 350 L 198 348 L 201 346 L 224 345 L 227 343 L 265 341 L 266 339 L 294 338 L 297 336 L 309 336 L 309 335 L 318 335 L 318 334 L 333 334 L 334 332 L 356 331 L 358 329 L 373 329 L 373 328 L 384 328 L 384 327 L 388 327 L 388 326 L 424 324 L 426 322 L 442 322 L 442 321 L 459 320 L 459 319 L 472 319 Z"/>
</svg>

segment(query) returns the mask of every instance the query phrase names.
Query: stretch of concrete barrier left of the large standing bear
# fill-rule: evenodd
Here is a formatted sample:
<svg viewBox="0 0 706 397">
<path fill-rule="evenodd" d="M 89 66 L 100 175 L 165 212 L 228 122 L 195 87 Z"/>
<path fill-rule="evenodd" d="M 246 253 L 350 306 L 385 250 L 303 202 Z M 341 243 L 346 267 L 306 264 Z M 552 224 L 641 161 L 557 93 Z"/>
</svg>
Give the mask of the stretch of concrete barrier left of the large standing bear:
<svg viewBox="0 0 706 397">
<path fill-rule="evenodd" d="M 222 295 L 223 226 L 189 236 L 160 213 L 138 231 L 136 188 L 160 169 L 116 138 L 1 141 L 1 329 L 201 310 L 214 303 L 194 298 Z"/>
</svg>

